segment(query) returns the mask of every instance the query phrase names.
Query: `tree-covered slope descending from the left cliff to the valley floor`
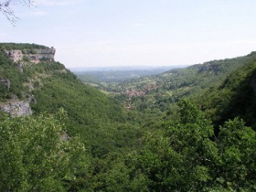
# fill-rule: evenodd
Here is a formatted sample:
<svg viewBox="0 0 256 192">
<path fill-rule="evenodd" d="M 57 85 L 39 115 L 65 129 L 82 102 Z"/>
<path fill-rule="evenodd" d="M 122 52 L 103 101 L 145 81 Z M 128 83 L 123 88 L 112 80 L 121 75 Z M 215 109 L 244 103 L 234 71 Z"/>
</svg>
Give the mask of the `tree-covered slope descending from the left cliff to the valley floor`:
<svg viewBox="0 0 256 192">
<path fill-rule="evenodd" d="M 23 45 L 18 44 L 16 47 L 15 44 L 11 44 L 10 46 L 12 49 L 19 49 Z M 0 75 L 2 79 L 8 79 L 10 88 L 2 86 L 2 102 L 11 103 L 14 98 L 29 100 L 27 97 L 32 95 L 35 100 L 30 103 L 34 111 L 32 119 L 40 117 L 41 113 L 56 116 L 59 108 L 63 108 L 67 118 L 61 123 L 65 124 L 68 138 L 78 136 L 86 149 L 88 158 L 82 163 L 86 168 L 81 169 L 81 174 L 84 175 L 90 171 L 90 174 L 86 174 L 87 178 L 91 175 L 90 179 L 86 180 L 87 183 L 93 184 L 93 178 L 98 180 L 99 174 L 96 173 L 107 172 L 104 167 L 109 165 L 103 164 L 107 161 L 105 159 L 115 153 L 123 156 L 124 152 L 136 146 L 136 139 L 141 131 L 136 126 L 137 123 L 128 122 L 130 113 L 126 113 L 116 101 L 107 98 L 101 91 L 82 84 L 59 62 L 41 61 L 33 64 L 21 61 L 21 72 L 18 70 L 17 63 L 11 62 L 3 50 L 5 50 L 5 44 L 0 54 Z M 22 121 L 21 124 L 26 126 Z M 98 166 L 103 167 L 98 170 Z M 78 181 L 74 181 L 74 184 L 75 182 Z M 70 181 L 69 184 L 71 187 L 72 182 Z"/>
</svg>

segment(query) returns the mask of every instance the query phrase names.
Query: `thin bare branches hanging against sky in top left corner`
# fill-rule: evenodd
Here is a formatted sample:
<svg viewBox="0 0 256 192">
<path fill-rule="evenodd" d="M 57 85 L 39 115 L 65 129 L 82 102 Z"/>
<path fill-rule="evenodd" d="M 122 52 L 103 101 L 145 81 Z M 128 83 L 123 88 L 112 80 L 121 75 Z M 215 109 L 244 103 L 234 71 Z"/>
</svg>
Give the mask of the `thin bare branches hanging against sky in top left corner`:
<svg viewBox="0 0 256 192">
<path fill-rule="evenodd" d="M 14 14 L 12 6 L 17 3 L 23 6 L 30 7 L 34 4 L 33 0 L 5 0 L 0 2 L 0 12 L 5 15 L 11 24 L 15 24 L 18 21 L 18 17 Z"/>
</svg>

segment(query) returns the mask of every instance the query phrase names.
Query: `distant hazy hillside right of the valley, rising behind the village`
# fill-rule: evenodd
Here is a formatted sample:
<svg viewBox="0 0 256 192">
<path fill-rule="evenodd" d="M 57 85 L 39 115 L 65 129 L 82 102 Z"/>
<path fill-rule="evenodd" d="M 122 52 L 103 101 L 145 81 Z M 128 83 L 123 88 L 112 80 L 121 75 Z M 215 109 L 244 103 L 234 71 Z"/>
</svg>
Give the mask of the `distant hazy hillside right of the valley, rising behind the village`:
<svg viewBox="0 0 256 192">
<path fill-rule="evenodd" d="M 207 88 L 221 84 L 232 72 L 242 66 L 251 65 L 255 59 L 256 53 L 252 52 L 247 56 L 234 59 L 213 60 L 184 69 L 171 69 L 159 75 L 131 78 L 112 85 L 106 90 L 121 93 L 117 98 L 123 100 L 123 104 L 126 103 L 130 90 L 146 91 L 146 94 L 141 97 L 131 98 L 132 106 L 166 111 L 181 98 L 197 98 Z M 149 87 L 152 88 L 149 90 Z"/>
</svg>

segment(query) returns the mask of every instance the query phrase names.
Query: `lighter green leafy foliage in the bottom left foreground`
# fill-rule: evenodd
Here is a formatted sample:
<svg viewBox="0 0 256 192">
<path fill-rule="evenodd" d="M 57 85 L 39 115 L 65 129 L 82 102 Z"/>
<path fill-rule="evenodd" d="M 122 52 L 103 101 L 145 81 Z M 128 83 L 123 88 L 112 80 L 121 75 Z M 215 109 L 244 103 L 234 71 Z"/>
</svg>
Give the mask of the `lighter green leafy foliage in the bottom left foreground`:
<svg viewBox="0 0 256 192">
<path fill-rule="evenodd" d="M 65 135 L 63 110 L 56 117 L 2 117 L 0 121 L 0 190 L 66 191 L 82 166 L 85 149 Z M 84 159 L 85 160 L 85 159 Z"/>
</svg>

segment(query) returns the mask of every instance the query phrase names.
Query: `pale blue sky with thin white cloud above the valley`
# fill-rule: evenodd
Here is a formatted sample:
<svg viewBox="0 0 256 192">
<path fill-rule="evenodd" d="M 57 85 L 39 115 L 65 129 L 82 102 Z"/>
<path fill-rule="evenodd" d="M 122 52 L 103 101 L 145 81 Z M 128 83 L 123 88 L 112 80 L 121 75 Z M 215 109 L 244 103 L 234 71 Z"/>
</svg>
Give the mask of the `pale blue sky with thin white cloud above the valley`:
<svg viewBox="0 0 256 192">
<path fill-rule="evenodd" d="M 0 0 L 1 2 L 1 0 Z M 56 48 L 67 68 L 178 66 L 256 50 L 255 0 L 34 0 L 0 42 Z"/>
</svg>

